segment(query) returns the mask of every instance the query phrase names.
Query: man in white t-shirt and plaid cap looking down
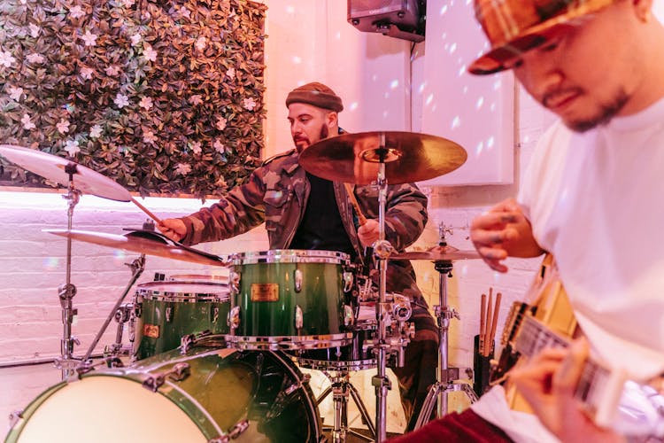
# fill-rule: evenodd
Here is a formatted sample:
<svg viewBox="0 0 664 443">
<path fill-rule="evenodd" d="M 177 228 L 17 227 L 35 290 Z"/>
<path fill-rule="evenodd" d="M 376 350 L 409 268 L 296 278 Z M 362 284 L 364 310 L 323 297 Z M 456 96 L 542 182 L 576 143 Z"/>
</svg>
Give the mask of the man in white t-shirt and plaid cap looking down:
<svg viewBox="0 0 664 443">
<path fill-rule="evenodd" d="M 620 440 L 572 392 L 588 343 L 639 381 L 664 373 L 664 27 L 652 0 L 477 0 L 475 11 L 491 49 L 469 71 L 512 69 L 560 120 L 518 198 L 478 216 L 471 238 L 499 272 L 508 256 L 552 253 L 588 339 L 512 379 L 561 440 Z"/>
</svg>

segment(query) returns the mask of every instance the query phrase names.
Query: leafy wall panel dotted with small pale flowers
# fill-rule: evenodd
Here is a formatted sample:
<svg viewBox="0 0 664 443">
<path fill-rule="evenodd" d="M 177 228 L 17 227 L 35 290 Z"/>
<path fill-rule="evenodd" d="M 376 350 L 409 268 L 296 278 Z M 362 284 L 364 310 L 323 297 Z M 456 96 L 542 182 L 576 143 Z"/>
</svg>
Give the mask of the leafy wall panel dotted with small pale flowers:
<svg viewBox="0 0 664 443">
<path fill-rule="evenodd" d="M 263 147 L 265 12 L 243 0 L 2 0 L 0 144 L 142 195 L 233 187 Z M 1 184 L 52 185 L 0 167 Z"/>
</svg>

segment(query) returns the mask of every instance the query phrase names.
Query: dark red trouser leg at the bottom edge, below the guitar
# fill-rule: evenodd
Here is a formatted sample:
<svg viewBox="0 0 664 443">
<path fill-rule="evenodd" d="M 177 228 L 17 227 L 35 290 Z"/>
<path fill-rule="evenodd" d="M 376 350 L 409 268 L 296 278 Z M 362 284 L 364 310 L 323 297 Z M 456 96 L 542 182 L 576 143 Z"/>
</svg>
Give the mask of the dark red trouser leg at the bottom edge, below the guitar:
<svg viewBox="0 0 664 443">
<path fill-rule="evenodd" d="M 500 428 L 490 424 L 471 409 L 466 409 L 461 414 L 452 412 L 443 418 L 425 424 L 417 431 L 390 439 L 390 443 L 423 443 L 429 441 L 495 443 L 511 442 L 513 440 L 507 437 L 507 434 Z"/>
</svg>

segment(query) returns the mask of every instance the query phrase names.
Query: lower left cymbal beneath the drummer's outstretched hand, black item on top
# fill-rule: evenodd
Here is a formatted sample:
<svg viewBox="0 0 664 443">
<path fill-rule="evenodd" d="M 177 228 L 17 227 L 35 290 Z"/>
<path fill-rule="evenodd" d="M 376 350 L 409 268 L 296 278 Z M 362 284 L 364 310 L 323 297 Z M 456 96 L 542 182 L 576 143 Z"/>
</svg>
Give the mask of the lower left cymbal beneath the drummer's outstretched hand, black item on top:
<svg viewBox="0 0 664 443">
<path fill-rule="evenodd" d="M 81 242 L 95 245 L 110 246 L 133 253 L 157 255 L 166 259 L 189 261 L 201 265 L 227 266 L 227 260 L 217 255 L 197 251 L 185 245 L 180 245 L 157 232 L 137 230 L 125 235 L 108 234 L 105 232 L 91 232 L 74 229 L 42 229 L 43 232 L 68 237 Z"/>
</svg>

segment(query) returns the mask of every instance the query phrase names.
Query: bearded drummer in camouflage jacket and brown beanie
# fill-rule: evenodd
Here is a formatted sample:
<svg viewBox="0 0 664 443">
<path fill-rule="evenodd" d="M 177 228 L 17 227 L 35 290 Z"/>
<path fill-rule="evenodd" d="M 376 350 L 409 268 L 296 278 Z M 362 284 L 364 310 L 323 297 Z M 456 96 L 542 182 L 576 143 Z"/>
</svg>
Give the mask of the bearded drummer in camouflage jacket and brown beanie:
<svg viewBox="0 0 664 443">
<path fill-rule="evenodd" d="M 338 251 L 349 254 L 351 260 L 366 260 L 364 248 L 379 237 L 378 191 L 370 185 L 355 186 L 360 211 L 367 217 L 359 226 L 344 183 L 311 175 L 298 164 L 299 154 L 308 146 L 344 133 L 338 125 L 338 113 L 344 109 L 341 97 L 328 86 L 312 82 L 290 91 L 286 106 L 295 149 L 267 159 L 246 183 L 229 190 L 214 205 L 161 221 L 158 229 L 184 245 L 196 245 L 234 237 L 265 222 L 270 249 Z M 385 238 L 397 251 L 420 237 L 427 219 L 427 198 L 415 184 L 388 186 Z M 387 291 L 413 302 L 415 337 L 405 349 L 405 366 L 393 369 L 410 430 L 429 385 L 436 381 L 436 324 L 409 261 L 389 261 Z"/>
</svg>

